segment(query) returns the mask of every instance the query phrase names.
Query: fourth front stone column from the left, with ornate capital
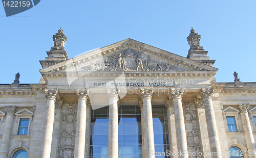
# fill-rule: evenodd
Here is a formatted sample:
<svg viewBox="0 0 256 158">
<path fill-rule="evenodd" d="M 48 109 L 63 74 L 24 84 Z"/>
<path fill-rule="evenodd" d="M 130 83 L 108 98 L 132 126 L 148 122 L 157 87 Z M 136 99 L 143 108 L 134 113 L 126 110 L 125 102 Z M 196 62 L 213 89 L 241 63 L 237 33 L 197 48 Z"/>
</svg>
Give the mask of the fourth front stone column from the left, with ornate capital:
<svg viewBox="0 0 256 158">
<path fill-rule="evenodd" d="M 153 116 L 151 99 L 153 96 L 153 89 L 140 89 L 140 98 L 143 101 L 143 139 L 144 139 L 144 153 L 145 157 L 155 157 L 155 143 L 153 130 Z M 143 148 L 143 147 L 142 147 Z"/>
</svg>

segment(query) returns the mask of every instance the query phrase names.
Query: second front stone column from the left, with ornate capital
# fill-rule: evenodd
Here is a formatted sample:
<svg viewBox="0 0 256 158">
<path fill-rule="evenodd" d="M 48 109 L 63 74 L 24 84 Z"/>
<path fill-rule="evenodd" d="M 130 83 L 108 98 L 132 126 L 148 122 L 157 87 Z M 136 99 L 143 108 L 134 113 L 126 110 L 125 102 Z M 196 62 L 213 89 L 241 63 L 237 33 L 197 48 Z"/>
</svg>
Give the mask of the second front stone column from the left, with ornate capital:
<svg viewBox="0 0 256 158">
<path fill-rule="evenodd" d="M 86 102 L 88 90 L 76 90 L 78 98 L 74 157 L 84 157 L 86 146 Z"/>
</svg>

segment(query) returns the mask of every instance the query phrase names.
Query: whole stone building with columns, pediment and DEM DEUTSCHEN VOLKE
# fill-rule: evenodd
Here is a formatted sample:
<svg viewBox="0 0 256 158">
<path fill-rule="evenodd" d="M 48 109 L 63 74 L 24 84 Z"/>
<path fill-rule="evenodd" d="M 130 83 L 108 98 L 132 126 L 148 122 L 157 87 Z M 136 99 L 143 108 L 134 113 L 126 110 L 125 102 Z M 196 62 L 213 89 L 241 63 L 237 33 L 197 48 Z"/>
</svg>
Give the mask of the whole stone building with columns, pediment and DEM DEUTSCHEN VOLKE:
<svg viewBox="0 0 256 158">
<path fill-rule="evenodd" d="M 69 59 L 60 28 L 39 84 L 0 85 L 0 158 L 255 158 L 256 83 L 217 83 L 200 39 L 186 58 L 126 39 Z"/>
</svg>

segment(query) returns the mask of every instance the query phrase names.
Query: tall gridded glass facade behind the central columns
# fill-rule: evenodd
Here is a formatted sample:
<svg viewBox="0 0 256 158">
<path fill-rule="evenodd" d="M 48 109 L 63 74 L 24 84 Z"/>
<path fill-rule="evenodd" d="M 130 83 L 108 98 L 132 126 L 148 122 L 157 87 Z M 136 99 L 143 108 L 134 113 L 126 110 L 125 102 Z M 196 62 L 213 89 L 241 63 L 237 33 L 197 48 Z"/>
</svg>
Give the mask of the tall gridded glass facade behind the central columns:
<svg viewBox="0 0 256 158">
<path fill-rule="evenodd" d="M 153 106 L 152 111 L 155 152 L 165 152 L 169 150 L 166 108 Z M 108 107 L 92 111 L 90 157 L 108 157 L 108 113 Z M 120 106 L 118 121 L 119 157 L 142 158 L 141 111 L 139 106 Z"/>
</svg>

